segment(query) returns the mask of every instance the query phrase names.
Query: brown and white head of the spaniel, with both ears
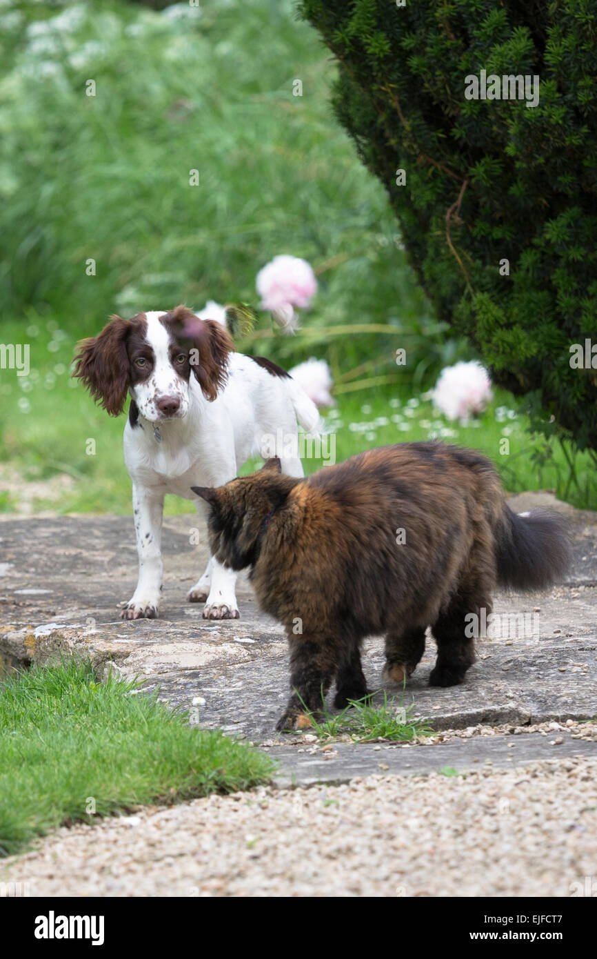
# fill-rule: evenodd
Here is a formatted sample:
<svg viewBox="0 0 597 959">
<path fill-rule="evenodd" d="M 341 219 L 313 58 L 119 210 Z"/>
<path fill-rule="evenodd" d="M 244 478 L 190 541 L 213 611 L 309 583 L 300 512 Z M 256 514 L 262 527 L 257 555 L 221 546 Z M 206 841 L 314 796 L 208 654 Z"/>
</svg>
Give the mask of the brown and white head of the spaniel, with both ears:
<svg viewBox="0 0 597 959">
<path fill-rule="evenodd" d="M 215 400 L 233 349 L 221 323 L 183 306 L 132 319 L 112 316 L 99 336 L 81 339 L 73 375 L 110 415 L 122 412 L 130 392 L 141 415 L 155 423 L 186 415 L 191 376 Z"/>
</svg>

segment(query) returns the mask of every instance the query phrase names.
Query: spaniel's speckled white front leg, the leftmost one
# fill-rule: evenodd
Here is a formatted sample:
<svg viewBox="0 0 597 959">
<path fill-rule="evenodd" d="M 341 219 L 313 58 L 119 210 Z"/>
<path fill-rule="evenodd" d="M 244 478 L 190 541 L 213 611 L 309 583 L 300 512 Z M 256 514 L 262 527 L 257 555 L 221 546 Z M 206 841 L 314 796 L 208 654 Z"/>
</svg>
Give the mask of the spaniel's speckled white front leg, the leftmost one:
<svg viewBox="0 0 597 959">
<path fill-rule="evenodd" d="M 121 613 L 124 620 L 157 617 L 162 591 L 162 515 L 164 494 L 133 483 L 132 506 L 139 556 L 137 589 Z"/>
</svg>

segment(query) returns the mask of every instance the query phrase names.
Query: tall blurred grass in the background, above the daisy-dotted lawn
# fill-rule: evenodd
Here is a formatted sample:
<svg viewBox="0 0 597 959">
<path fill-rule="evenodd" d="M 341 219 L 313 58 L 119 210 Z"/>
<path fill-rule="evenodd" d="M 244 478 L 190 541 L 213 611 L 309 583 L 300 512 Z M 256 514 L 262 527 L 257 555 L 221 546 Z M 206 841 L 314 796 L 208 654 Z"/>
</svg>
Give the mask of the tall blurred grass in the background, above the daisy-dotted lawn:
<svg viewBox="0 0 597 959">
<path fill-rule="evenodd" d="M 258 306 L 257 271 L 287 252 L 320 289 L 302 335 L 273 336 L 260 314 L 262 352 L 323 356 L 336 374 L 368 361 L 396 380 L 402 339 L 402 378 L 433 377 L 458 351 L 437 332 L 426 349 L 437 324 L 379 182 L 333 119 L 333 64 L 287 0 L 5 3 L 0 30 L 7 316 L 59 316 L 84 336 L 111 313 Z M 387 329 L 317 332 L 356 323 Z"/>
</svg>

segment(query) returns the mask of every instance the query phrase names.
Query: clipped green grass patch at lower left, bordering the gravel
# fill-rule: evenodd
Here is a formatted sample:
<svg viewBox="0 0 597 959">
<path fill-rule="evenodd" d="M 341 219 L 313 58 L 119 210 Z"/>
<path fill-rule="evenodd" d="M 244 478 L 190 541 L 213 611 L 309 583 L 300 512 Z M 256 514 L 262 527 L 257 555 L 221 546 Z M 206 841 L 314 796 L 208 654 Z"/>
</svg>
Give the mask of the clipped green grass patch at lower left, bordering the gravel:
<svg viewBox="0 0 597 959">
<path fill-rule="evenodd" d="M 249 789 L 274 764 L 70 661 L 0 686 L 0 855 L 62 824 Z M 95 816 L 90 808 L 95 810 Z"/>
</svg>

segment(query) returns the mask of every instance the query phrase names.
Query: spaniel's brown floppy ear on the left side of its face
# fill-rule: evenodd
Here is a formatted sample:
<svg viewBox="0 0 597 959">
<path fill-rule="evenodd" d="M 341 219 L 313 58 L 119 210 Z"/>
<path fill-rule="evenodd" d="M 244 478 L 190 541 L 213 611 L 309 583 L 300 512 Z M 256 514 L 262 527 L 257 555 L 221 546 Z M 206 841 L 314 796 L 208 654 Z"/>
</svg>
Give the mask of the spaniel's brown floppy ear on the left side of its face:
<svg viewBox="0 0 597 959">
<path fill-rule="evenodd" d="M 110 416 L 118 416 L 125 406 L 130 379 L 126 337 L 130 328 L 130 320 L 111 316 L 99 336 L 81 339 L 77 344 L 73 376 Z"/>
</svg>

